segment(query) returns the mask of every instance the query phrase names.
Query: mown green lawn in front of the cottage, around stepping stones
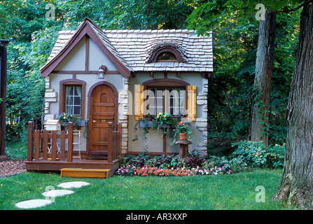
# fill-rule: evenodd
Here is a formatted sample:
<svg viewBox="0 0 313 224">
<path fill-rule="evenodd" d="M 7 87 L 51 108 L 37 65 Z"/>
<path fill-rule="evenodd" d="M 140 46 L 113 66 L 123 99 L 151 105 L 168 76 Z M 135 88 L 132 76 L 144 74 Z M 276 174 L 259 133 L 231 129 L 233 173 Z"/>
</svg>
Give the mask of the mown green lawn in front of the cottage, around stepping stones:
<svg viewBox="0 0 313 224">
<path fill-rule="evenodd" d="M 44 199 L 47 186 L 55 189 L 67 181 L 87 181 L 89 186 L 57 197 L 39 210 L 281 210 L 293 209 L 272 202 L 281 178 L 280 169 L 209 176 L 113 176 L 109 179 L 60 178 L 60 174 L 24 173 L 0 179 L 0 209 L 18 209 L 15 203 Z M 265 202 L 256 202 L 256 187 L 264 186 Z M 73 190 L 73 189 L 72 189 Z"/>
</svg>

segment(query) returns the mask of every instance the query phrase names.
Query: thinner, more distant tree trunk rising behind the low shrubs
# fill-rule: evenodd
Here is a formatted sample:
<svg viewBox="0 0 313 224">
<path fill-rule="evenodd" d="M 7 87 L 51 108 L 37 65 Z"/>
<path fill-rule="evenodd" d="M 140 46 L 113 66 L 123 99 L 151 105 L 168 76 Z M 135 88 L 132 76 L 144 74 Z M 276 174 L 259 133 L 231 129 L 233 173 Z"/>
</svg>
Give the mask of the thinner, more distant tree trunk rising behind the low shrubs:
<svg viewBox="0 0 313 224">
<path fill-rule="evenodd" d="M 253 107 L 251 114 L 250 140 L 268 144 L 268 109 L 270 105 L 270 85 L 274 59 L 276 13 L 265 12 L 265 20 L 260 20 L 258 50 L 256 52 L 256 73 L 254 78 Z"/>
</svg>

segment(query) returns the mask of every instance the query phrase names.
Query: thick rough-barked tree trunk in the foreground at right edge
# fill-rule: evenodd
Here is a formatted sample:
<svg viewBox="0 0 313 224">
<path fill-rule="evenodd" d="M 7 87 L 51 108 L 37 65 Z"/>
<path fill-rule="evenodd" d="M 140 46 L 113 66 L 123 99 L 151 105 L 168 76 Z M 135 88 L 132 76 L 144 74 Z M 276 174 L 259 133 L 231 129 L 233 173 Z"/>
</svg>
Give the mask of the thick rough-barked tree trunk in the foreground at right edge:
<svg viewBox="0 0 313 224">
<path fill-rule="evenodd" d="M 313 209 L 313 4 L 302 8 L 287 106 L 284 170 L 274 200 Z"/>
</svg>

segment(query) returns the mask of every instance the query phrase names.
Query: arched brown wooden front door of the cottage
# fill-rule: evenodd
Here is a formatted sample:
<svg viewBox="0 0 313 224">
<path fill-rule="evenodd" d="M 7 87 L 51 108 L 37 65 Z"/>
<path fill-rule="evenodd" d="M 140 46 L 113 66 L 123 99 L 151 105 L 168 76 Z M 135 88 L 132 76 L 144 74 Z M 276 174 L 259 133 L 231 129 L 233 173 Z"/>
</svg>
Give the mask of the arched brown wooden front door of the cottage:
<svg viewBox="0 0 313 224">
<path fill-rule="evenodd" d="M 116 121 L 116 93 L 109 85 L 101 84 L 90 94 L 89 153 L 104 155 L 109 151 L 108 123 Z"/>
</svg>

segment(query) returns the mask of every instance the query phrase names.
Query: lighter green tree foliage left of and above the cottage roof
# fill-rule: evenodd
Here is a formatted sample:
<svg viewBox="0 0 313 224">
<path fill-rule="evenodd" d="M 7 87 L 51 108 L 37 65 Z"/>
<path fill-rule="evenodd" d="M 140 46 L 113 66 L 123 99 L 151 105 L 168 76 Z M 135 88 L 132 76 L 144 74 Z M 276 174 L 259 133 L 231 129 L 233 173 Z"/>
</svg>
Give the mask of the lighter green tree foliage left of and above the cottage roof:
<svg viewBox="0 0 313 224">
<path fill-rule="evenodd" d="M 47 20 L 48 3 L 55 20 Z M 193 7 L 188 1 L 12 0 L 0 1 L 0 38 L 9 39 L 7 78 L 8 140 L 20 137 L 29 120 L 43 116 L 45 80 L 40 68 L 58 31 L 76 29 L 88 17 L 102 29 L 182 29 Z M 25 136 L 22 134 L 22 136 Z"/>
</svg>

